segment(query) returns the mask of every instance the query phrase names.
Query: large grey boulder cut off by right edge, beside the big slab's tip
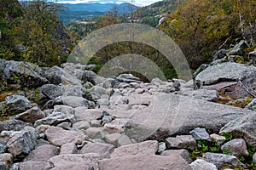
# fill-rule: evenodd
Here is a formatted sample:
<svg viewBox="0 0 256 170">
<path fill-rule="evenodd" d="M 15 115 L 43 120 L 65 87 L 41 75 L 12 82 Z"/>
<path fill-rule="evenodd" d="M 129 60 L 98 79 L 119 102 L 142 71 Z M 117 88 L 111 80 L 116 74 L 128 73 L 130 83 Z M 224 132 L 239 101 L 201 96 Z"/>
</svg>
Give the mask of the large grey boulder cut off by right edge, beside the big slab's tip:
<svg viewBox="0 0 256 170">
<path fill-rule="evenodd" d="M 247 144 L 256 146 L 256 115 L 247 113 L 237 117 L 221 128 L 219 133 L 231 133 L 236 139 L 245 139 Z"/>
</svg>

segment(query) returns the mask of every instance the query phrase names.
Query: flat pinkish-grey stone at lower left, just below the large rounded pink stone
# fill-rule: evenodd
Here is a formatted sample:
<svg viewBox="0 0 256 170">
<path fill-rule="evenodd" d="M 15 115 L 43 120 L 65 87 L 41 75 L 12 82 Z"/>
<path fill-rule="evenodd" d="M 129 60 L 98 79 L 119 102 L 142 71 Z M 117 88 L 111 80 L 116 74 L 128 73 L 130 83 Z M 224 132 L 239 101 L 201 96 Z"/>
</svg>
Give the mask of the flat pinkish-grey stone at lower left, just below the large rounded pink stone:
<svg viewBox="0 0 256 170">
<path fill-rule="evenodd" d="M 48 161 L 49 158 L 57 156 L 60 148 L 51 145 L 43 144 L 37 149 L 32 150 L 28 156 L 25 157 L 24 161 Z"/>
</svg>

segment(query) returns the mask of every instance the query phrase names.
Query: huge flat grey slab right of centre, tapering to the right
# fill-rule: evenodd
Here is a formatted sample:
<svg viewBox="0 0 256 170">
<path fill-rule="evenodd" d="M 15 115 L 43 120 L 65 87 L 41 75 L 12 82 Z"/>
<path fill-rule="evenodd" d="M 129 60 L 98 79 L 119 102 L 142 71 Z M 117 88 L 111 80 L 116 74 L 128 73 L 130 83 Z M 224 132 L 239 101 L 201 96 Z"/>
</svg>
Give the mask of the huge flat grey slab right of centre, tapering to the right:
<svg viewBox="0 0 256 170">
<path fill-rule="evenodd" d="M 137 111 L 125 125 L 125 134 L 143 141 L 166 139 L 173 134 L 188 134 L 195 127 L 205 127 L 208 133 L 218 133 L 230 120 L 250 111 L 227 105 L 174 94 L 155 94 L 148 108 Z"/>
</svg>

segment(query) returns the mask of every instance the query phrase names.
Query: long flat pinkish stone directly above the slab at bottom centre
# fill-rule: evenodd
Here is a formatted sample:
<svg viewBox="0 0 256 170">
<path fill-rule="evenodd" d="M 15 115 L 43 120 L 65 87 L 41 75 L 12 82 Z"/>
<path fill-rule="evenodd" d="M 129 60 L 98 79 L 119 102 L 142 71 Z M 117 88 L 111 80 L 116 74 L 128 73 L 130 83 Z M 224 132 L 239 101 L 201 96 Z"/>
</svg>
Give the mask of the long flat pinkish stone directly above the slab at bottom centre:
<svg viewBox="0 0 256 170">
<path fill-rule="evenodd" d="M 148 140 L 138 144 L 129 144 L 120 146 L 113 150 L 111 158 L 135 155 L 155 155 L 158 150 L 158 142 L 156 140 Z"/>
</svg>

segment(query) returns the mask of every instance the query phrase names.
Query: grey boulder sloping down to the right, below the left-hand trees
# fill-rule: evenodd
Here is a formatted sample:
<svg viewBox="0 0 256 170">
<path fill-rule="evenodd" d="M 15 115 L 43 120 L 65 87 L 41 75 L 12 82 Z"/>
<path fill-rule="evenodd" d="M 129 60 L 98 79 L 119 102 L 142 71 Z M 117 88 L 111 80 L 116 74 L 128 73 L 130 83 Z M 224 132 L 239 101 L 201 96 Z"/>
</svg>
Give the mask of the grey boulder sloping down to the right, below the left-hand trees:
<svg viewBox="0 0 256 170">
<path fill-rule="evenodd" d="M 77 77 L 58 66 L 53 66 L 49 70 L 45 71 L 45 76 L 50 83 L 55 85 L 62 83 L 63 85 L 73 84 L 81 86 L 81 81 L 79 81 Z"/>
</svg>

